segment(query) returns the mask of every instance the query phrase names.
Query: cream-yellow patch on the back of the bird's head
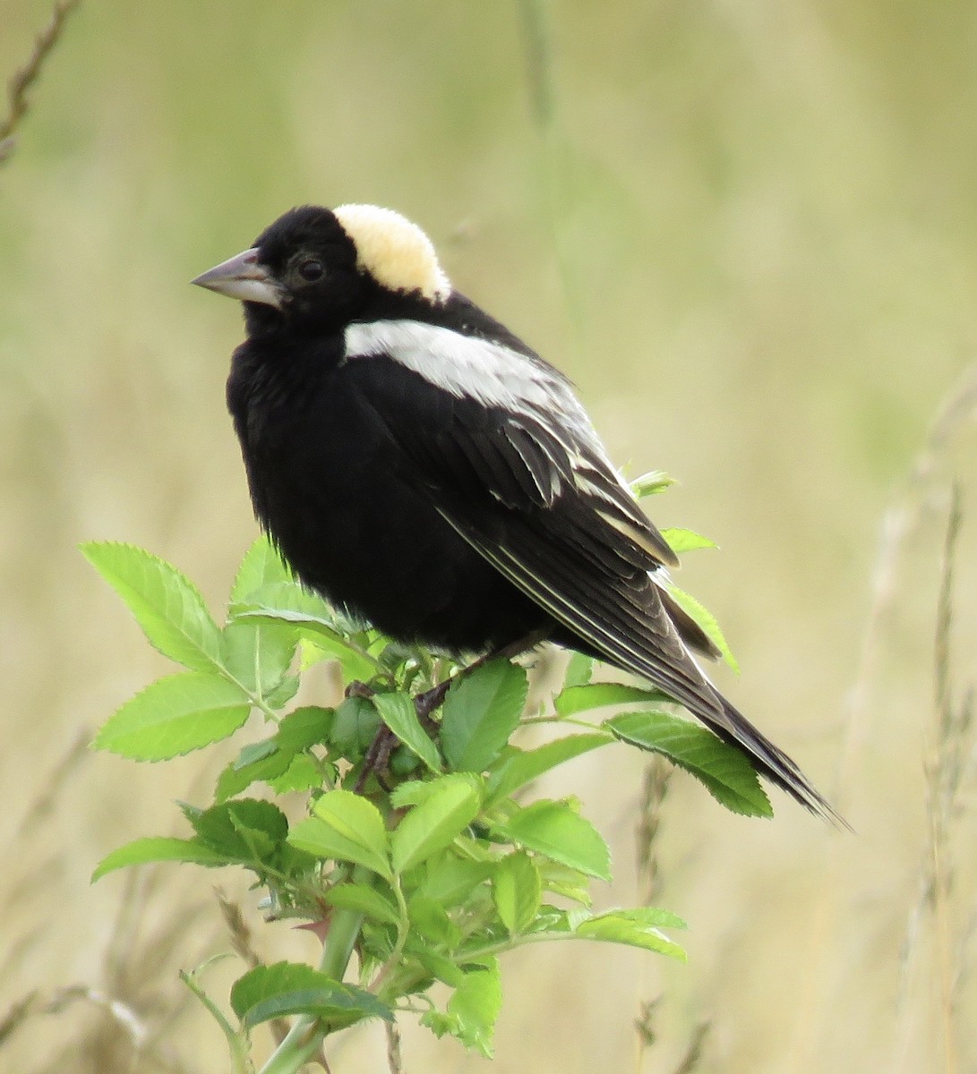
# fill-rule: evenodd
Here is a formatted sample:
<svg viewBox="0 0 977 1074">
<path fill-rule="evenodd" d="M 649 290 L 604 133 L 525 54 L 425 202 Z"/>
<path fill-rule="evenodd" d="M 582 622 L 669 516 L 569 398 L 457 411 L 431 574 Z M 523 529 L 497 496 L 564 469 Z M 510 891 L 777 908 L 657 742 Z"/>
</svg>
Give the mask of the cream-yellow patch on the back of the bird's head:
<svg viewBox="0 0 977 1074">
<path fill-rule="evenodd" d="M 341 205 L 333 215 L 356 246 L 358 267 L 384 287 L 419 291 L 432 302 L 444 302 L 451 293 L 433 243 L 400 213 L 378 205 Z"/>
</svg>

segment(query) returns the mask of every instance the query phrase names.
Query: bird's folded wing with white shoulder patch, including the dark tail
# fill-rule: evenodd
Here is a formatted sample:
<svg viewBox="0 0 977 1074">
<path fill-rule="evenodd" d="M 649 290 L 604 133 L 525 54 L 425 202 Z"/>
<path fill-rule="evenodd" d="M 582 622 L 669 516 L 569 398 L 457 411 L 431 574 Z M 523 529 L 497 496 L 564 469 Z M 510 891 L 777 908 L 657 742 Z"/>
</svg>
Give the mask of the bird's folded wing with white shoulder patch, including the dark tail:
<svg viewBox="0 0 977 1074">
<path fill-rule="evenodd" d="M 683 642 L 656 580 L 674 553 L 566 382 L 486 340 L 413 321 L 383 326 L 347 330 L 347 374 L 403 453 L 405 479 L 570 637 L 651 680 L 803 804 L 831 815 Z"/>
</svg>

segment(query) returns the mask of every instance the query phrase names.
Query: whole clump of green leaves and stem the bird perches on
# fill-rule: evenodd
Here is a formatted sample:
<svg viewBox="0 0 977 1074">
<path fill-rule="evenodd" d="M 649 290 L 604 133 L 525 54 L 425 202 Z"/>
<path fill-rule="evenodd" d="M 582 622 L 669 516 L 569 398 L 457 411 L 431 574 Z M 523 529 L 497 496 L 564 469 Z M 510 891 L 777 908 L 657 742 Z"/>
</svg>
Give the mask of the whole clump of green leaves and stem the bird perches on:
<svg viewBox="0 0 977 1074">
<path fill-rule="evenodd" d="M 645 484 L 661 491 L 667 479 L 652 475 Z M 667 536 L 684 549 L 709 543 L 688 531 Z M 97 748 L 159 761 L 230 737 L 252 713 L 271 725 L 241 746 L 209 806 L 182 807 L 191 833 L 137 839 L 95 871 L 150 861 L 243 867 L 276 915 L 326 935 L 318 968 L 259 966 L 236 982 L 236 1028 L 199 974 L 185 976 L 239 1059 L 252 1027 L 297 1016 L 268 1074 L 298 1070 L 329 1033 L 405 1011 L 490 1056 L 502 1003 L 498 956 L 522 944 L 591 940 L 685 958 L 663 931 L 683 927 L 674 914 L 590 910 L 591 882 L 610 879 L 607 844 L 575 799 L 525 800 L 565 761 L 627 743 L 664 754 L 736 812 L 770 814 L 736 750 L 662 711 L 660 691 L 591 682 L 588 657 L 573 656 L 551 702 L 531 713 L 559 736 L 526 749 L 517 744 L 523 667 L 495 659 L 462 671 L 359 629 L 303 590 L 263 539 L 241 565 L 222 625 L 156 556 L 117 543 L 84 552 L 149 642 L 184 668 L 125 702 Z M 721 638 L 704 609 L 684 607 Z M 339 663 L 346 698 L 335 708 L 290 708 L 302 670 L 327 659 Z M 441 695 L 429 692 L 446 677 L 439 706 Z M 622 706 L 644 708 L 591 716 Z M 308 809 L 289 823 L 269 799 L 292 792 L 306 795 Z M 343 978 L 354 950 L 359 977 L 350 984 Z M 437 983 L 449 989 L 443 1006 L 431 992 Z"/>
</svg>

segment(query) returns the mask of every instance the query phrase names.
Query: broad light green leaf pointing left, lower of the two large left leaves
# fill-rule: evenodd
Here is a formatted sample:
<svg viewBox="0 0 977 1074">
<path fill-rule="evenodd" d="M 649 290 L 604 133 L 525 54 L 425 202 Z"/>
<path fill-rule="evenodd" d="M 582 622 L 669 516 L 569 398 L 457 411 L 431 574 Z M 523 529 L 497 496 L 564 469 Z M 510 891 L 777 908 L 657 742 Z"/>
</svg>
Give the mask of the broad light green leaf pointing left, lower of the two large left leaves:
<svg viewBox="0 0 977 1074">
<path fill-rule="evenodd" d="M 232 735 L 250 713 L 247 695 L 204 671 L 157 679 L 102 725 L 92 743 L 132 760 L 168 760 Z"/>
</svg>

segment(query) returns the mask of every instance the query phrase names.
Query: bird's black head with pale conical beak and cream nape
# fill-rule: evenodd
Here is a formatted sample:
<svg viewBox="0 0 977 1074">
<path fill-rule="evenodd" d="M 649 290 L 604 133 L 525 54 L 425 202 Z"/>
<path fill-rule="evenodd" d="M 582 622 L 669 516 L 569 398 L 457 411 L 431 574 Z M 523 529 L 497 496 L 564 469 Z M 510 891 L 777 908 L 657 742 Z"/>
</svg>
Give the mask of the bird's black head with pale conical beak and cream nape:
<svg viewBox="0 0 977 1074">
<path fill-rule="evenodd" d="M 420 228 L 375 205 L 289 209 L 249 249 L 192 282 L 240 299 L 252 330 L 342 324 L 377 296 L 439 303 L 451 291 Z"/>
</svg>

